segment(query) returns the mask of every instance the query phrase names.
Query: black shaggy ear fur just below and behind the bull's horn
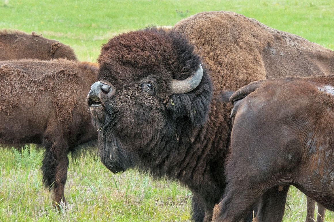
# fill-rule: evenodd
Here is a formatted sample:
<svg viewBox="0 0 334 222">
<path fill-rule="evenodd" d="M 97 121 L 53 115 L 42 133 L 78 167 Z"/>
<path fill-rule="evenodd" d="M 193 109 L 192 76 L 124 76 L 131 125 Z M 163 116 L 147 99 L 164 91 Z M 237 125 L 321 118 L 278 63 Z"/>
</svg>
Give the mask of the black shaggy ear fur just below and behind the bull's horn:
<svg viewBox="0 0 334 222">
<path fill-rule="evenodd" d="M 174 121 L 190 121 L 199 127 L 208 118 L 212 99 L 212 82 L 207 75 L 203 75 L 201 83 L 186 94 L 173 94 L 170 96 L 166 107 Z"/>
</svg>

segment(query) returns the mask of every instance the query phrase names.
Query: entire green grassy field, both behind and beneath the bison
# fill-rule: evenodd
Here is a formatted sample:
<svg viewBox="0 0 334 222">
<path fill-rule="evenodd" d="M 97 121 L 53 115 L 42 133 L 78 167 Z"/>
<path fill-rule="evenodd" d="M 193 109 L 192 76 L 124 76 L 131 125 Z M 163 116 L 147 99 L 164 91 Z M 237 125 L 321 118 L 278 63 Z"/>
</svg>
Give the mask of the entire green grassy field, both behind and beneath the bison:
<svg viewBox="0 0 334 222">
<path fill-rule="evenodd" d="M 71 45 L 78 59 L 96 62 L 103 43 L 118 33 L 150 25 L 174 25 L 201 11 L 244 14 L 334 50 L 334 1 L 31 1 L 0 0 L 0 29 L 36 31 Z M 0 120 L 1 121 L 1 120 Z M 52 208 L 42 186 L 42 151 L 0 147 L 0 221 L 189 221 L 191 192 L 153 181 L 136 171 L 112 174 L 88 157 L 70 164 L 69 206 Z M 306 198 L 291 189 L 284 221 L 304 221 Z M 326 221 L 334 221 L 327 212 Z"/>
</svg>

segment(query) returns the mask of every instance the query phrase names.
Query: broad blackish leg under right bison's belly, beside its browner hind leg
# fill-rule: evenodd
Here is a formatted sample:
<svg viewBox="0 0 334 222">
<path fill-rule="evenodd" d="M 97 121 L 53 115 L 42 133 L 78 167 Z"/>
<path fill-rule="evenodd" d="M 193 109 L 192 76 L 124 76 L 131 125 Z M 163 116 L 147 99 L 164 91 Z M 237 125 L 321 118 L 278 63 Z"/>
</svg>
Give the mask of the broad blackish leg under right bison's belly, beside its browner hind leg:
<svg viewBox="0 0 334 222">
<path fill-rule="evenodd" d="M 256 222 L 282 221 L 289 187 L 289 185 L 284 186 L 282 190 L 273 187 L 262 196 L 255 218 Z"/>
</svg>

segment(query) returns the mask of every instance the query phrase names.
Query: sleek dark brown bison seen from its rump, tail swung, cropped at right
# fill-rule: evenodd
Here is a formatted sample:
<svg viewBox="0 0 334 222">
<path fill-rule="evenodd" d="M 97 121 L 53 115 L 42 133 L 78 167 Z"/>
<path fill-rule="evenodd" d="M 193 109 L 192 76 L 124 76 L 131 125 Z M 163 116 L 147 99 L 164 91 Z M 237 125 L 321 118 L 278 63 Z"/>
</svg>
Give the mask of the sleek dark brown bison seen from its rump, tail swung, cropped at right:
<svg viewBox="0 0 334 222">
<path fill-rule="evenodd" d="M 268 191 L 294 185 L 334 210 L 334 76 L 261 80 L 235 92 L 226 161 L 227 186 L 213 221 L 239 221 L 272 199 L 256 221 L 271 220 L 280 203 Z M 261 207 L 260 207 L 261 209 Z"/>
</svg>

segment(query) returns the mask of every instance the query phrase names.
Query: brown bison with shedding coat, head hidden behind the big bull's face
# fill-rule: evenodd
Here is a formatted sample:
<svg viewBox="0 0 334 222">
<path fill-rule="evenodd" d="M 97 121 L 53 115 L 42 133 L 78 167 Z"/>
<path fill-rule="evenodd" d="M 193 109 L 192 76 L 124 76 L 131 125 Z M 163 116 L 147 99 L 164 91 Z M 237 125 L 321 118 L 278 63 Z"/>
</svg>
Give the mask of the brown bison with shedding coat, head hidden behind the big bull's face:
<svg viewBox="0 0 334 222">
<path fill-rule="evenodd" d="M 65 202 L 67 154 L 76 156 L 97 139 L 86 102 L 97 71 L 64 59 L 0 62 L 0 143 L 45 148 L 43 183 L 56 204 Z"/>
</svg>

